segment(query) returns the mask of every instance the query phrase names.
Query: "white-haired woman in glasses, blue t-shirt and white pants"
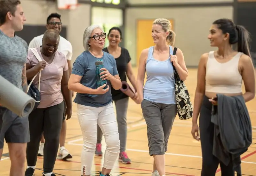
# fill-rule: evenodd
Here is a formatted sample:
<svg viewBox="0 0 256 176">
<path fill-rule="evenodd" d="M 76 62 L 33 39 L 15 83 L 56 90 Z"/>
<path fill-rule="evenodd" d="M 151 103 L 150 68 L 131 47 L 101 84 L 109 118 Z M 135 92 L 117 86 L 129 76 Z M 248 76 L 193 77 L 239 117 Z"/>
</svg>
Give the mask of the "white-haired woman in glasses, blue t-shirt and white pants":
<svg viewBox="0 0 256 176">
<path fill-rule="evenodd" d="M 109 87 L 112 85 L 118 90 L 122 84 L 114 57 L 102 51 L 105 38 L 106 33 L 100 26 L 93 25 L 85 29 L 83 37 L 85 51 L 76 58 L 68 82 L 69 90 L 77 92 L 74 102 L 77 104 L 78 121 L 84 138 L 81 154 L 82 176 L 91 174 L 97 142 L 97 124 L 107 144 L 100 176 L 109 176 L 119 154 L 119 134 Z M 100 87 L 97 86 L 95 66 L 98 60 L 103 60 L 104 68 L 101 68 L 100 76 L 107 81 L 107 85 Z"/>
</svg>

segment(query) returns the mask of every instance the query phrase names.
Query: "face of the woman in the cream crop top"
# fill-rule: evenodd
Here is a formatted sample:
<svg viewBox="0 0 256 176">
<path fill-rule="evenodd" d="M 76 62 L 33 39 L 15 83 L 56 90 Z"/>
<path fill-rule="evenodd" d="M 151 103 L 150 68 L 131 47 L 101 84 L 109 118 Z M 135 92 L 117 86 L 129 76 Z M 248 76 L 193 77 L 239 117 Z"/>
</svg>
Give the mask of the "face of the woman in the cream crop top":
<svg viewBox="0 0 256 176">
<path fill-rule="evenodd" d="M 218 47 L 223 44 L 223 42 L 228 41 L 229 34 L 223 34 L 222 30 L 218 28 L 216 24 L 213 24 L 210 28 L 210 34 L 208 35 L 208 39 L 210 40 L 210 44 L 213 47 Z"/>
</svg>

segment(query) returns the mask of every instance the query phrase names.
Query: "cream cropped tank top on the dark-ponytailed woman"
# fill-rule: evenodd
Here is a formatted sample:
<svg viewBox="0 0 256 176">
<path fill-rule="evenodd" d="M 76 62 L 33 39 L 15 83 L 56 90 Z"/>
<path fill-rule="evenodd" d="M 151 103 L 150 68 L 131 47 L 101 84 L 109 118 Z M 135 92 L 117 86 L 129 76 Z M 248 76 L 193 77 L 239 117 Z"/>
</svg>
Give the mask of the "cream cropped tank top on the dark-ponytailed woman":
<svg viewBox="0 0 256 176">
<path fill-rule="evenodd" d="M 238 52 L 225 63 L 218 62 L 214 51 L 209 52 L 205 72 L 205 92 L 240 93 L 242 92 L 242 76 L 238 70 L 238 62 L 242 52 Z"/>
</svg>

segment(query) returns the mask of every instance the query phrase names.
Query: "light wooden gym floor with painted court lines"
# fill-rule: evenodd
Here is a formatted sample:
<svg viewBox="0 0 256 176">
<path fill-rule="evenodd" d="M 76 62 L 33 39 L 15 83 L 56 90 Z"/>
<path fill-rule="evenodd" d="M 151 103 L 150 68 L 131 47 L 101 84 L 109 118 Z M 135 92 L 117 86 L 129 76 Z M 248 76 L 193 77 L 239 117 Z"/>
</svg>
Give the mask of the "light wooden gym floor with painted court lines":
<svg viewBox="0 0 256 176">
<path fill-rule="evenodd" d="M 137 75 L 137 69 L 134 68 L 134 73 Z M 189 76 L 185 82 L 191 100 L 194 102 L 194 94 L 196 89 L 197 69 L 189 69 Z M 256 100 L 247 103 L 249 113 L 252 120 L 253 135 L 256 135 L 256 110 L 254 110 Z M 65 147 L 73 155 L 69 161 L 56 160 L 54 173 L 61 176 L 80 176 L 80 156 L 82 150 L 83 138 L 81 135 L 80 126 L 76 116 L 76 104 L 73 104 L 72 118 L 67 121 L 67 136 Z M 132 160 L 131 164 L 122 164 L 116 161 L 115 167 L 111 174 L 142 176 L 150 175 L 153 168 L 153 157 L 148 154 L 147 128 L 142 117 L 140 105 L 135 104 L 132 100 L 129 101 L 128 115 L 128 135 L 126 152 Z M 165 156 L 166 175 L 181 175 L 181 176 L 200 176 L 201 172 L 201 148 L 200 142 L 194 140 L 190 133 L 191 119 L 180 120 L 175 119 L 172 133 L 169 139 L 168 151 Z M 254 140 L 253 142 L 255 142 Z M 105 146 L 105 141 L 102 141 L 102 146 Z M 103 152 L 104 152 L 104 148 Z M 247 152 L 242 157 L 242 173 L 247 176 L 256 176 L 256 145 L 251 145 Z M 0 162 L 0 175 L 9 176 L 10 159 L 8 157 L 8 148 L 4 144 L 4 152 Z M 99 175 L 103 164 L 102 157 L 95 156 L 92 165 L 92 176 Z M 42 175 L 43 157 L 37 157 L 35 176 Z M 220 169 L 217 170 L 217 176 L 220 176 Z"/>
</svg>

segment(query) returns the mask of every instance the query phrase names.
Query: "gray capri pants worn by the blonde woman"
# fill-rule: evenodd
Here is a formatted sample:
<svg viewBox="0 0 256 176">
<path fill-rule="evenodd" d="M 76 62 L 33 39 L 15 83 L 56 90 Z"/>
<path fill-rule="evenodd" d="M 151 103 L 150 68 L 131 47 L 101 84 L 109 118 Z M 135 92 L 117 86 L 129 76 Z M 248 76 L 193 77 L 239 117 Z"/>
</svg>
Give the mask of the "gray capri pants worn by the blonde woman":
<svg viewBox="0 0 256 176">
<path fill-rule="evenodd" d="M 140 106 L 147 124 L 149 155 L 164 155 L 177 115 L 177 105 L 143 99 Z"/>
</svg>

